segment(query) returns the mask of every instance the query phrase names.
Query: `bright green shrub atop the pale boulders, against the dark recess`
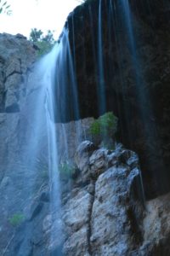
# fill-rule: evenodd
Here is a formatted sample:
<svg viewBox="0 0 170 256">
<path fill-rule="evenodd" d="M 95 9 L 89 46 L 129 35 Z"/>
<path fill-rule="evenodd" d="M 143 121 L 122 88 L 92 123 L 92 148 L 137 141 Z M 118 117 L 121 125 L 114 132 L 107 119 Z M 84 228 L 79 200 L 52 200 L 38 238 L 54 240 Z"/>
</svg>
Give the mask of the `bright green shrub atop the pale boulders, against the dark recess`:
<svg viewBox="0 0 170 256">
<path fill-rule="evenodd" d="M 94 120 L 89 131 L 93 136 L 113 137 L 117 129 L 117 120 L 112 112 L 105 113 Z"/>
</svg>

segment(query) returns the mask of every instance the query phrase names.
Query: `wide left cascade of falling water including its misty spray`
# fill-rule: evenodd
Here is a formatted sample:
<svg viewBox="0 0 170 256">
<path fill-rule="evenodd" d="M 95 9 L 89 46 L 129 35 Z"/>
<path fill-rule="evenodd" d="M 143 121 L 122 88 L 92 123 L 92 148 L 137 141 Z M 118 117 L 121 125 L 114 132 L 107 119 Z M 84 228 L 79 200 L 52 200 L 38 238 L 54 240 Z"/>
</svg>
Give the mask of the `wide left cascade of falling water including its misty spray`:
<svg viewBox="0 0 170 256">
<path fill-rule="evenodd" d="M 7 166 L 8 172 L 15 168 L 20 176 L 19 179 L 14 178 L 14 185 L 6 191 L 6 196 L 11 199 L 8 212 L 11 215 L 12 212 L 23 212 L 31 224 L 26 223 L 22 230 L 23 242 L 20 246 L 14 244 L 14 255 L 25 255 L 26 243 L 35 234 L 32 221 L 40 218 L 39 215 L 45 218 L 43 214 L 48 214 L 53 227 L 45 237 L 48 248 L 39 249 L 44 250 L 46 255 L 61 255 L 64 232 L 59 168 L 62 163 L 70 164 L 73 154 L 68 147 L 70 141 L 74 141 L 72 146 L 76 149 L 82 138 L 79 121 L 74 125 L 73 138 L 71 124 L 64 123 L 79 119 L 78 109 L 77 82 L 65 28 L 59 43 L 35 64 L 26 79 L 26 99 L 23 100 L 19 123 L 20 152 L 17 159 L 13 157 L 14 163 L 8 162 Z M 47 191 L 47 198 L 49 194 L 49 200 L 45 199 L 47 203 L 44 204 L 40 199 L 34 209 L 32 197 L 37 195 L 41 198 L 44 191 Z M 37 214 L 40 208 L 42 210 Z M 42 254 L 39 251 L 34 253 Z"/>
</svg>

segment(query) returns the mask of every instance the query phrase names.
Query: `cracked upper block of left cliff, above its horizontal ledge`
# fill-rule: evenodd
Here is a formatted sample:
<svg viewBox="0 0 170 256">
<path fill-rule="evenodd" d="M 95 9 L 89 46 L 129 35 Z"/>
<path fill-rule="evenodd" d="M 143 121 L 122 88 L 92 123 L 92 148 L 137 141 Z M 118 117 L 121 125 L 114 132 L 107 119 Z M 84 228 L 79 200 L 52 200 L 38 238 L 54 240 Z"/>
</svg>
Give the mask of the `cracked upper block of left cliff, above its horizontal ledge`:
<svg viewBox="0 0 170 256">
<path fill-rule="evenodd" d="M 26 96 L 23 88 L 24 75 L 36 60 L 33 44 L 20 34 L 0 36 L 0 113 L 20 111 L 22 97 Z"/>
</svg>

